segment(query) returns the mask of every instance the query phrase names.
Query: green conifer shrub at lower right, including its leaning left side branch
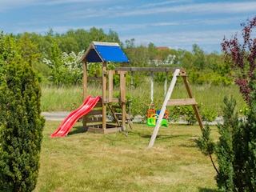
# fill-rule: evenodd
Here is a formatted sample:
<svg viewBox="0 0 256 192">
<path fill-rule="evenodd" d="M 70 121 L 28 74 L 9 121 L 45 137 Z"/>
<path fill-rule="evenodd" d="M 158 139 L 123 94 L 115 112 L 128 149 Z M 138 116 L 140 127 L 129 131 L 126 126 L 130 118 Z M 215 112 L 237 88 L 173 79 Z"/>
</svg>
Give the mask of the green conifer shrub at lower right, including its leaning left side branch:
<svg viewBox="0 0 256 192">
<path fill-rule="evenodd" d="M 206 126 L 206 128 L 202 130 L 202 137 L 198 138 L 196 142 L 202 154 L 210 155 L 213 165 L 212 154 L 216 154 L 217 156 L 218 169 L 215 165 L 214 168 L 217 171 L 215 179 L 218 184 L 218 189 L 220 191 L 236 191 L 237 187 L 234 182 L 238 179 L 236 177 L 241 176 L 236 172 L 241 168 L 239 164 L 239 160 L 241 159 L 239 159 L 238 155 L 238 138 L 240 137 L 238 134 L 238 114 L 234 111 L 236 106 L 234 98 L 230 98 L 230 100 L 224 98 L 224 104 L 224 123 L 218 124 L 219 141 L 216 144 L 213 142 L 213 139 L 210 137 L 210 127 Z M 237 149 L 235 149 L 235 147 L 237 147 Z M 236 155 L 238 156 L 236 157 Z"/>
</svg>

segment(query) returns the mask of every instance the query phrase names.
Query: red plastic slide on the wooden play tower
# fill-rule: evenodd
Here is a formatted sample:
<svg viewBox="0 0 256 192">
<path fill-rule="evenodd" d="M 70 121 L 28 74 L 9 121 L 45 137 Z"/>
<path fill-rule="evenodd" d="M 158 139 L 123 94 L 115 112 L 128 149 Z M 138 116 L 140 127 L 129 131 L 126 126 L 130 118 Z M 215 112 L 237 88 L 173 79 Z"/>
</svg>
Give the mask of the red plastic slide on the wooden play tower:
<svg viewBox="0 0 256 192">
<path fill-rule="evenodd" d="M 98 100 L 100 99 L 99 96 L 92 97 L 88 96 L 85 100 L 85 102 L 82 103 L 82 106 L 79 106 L 78 109 L 74 110 L 72 113 L 70 113 L 62 122 L 62 124 L 58 127 L 58 130 L 56 130 L 53 134 L 51 134 L 50 138 L 58 138 L 58 137 L 64 137 L 66 134 L 69 133 L 69 131 L 74 126 L 74 123 L 78 121 L 79 118 L 82 118 L 83 115 L 87 114 L 94 108 L 94 106 L 97 104 Z"/>
</svg>

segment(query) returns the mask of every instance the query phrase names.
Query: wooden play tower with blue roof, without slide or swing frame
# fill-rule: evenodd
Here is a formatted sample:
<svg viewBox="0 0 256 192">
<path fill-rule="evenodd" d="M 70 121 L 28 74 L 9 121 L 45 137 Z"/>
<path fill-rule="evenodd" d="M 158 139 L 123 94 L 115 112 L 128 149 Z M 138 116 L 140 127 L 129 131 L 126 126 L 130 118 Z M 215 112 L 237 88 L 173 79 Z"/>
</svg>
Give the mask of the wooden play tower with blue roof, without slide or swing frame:
<svg viewBox="0 0 256 192">
<path fill-rule="evenodd" d="M 81 61 L 84 63 L 84 86 L 83 96 L 87 95 L 87 82 L 89 80 L 98 81 L 98 85 L 102 86 L 102 96 L 97 105 L 88 114 L 82 117 L 83 126 L 88 132 L 107 134 L 124 130 L 126 123 L 132 127 L 132 122 L 126 114 L 126 72 L 118 70 L 107 70 L 108 62 L 121 62 L 123 65 L 129 62 L 126 54 L 123 53 L 118 43 L 114 42 L 91 42 L 90 46 L 83 55 Z M 94 77 L 88 77 L 88 62 L 102 62 L 102 74 Z M 113 76 L 120 76 L 120 98 L 113 97 Z M 113 114 L 116 124 L 107 122 L 107 107 Z"/>
</svg>

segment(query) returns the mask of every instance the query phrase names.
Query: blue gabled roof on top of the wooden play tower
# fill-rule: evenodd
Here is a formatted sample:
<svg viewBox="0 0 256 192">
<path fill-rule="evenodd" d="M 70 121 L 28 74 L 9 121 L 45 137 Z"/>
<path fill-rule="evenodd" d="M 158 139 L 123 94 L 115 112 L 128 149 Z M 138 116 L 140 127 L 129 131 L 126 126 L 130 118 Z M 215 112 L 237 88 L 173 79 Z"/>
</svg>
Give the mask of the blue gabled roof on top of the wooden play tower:
<svg viewBox="0 0 256 192">
<path fill-rule="evenodd" d="M 115 42 L 91 42 L 81 61 L 130 62 L 121 47 Z"/>
</svg>

